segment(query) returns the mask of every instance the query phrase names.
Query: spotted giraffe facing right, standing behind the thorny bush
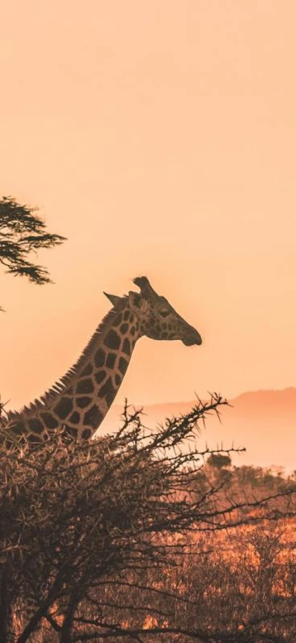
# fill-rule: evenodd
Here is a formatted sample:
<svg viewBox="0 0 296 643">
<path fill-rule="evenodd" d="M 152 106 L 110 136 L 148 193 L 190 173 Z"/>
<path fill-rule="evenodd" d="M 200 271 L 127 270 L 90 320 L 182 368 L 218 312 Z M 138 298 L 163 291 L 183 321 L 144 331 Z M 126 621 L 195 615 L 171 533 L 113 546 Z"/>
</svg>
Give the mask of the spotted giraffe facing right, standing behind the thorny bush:
<svg viewBox="0 0 296 643">
<path fill-rule="evenodd" d="M 40 399 L 8 414 L 15 439 L 41 442 L 62 426 L 76 439 L 89 439 L 111 406 L 140 337 L 180 339 L 185 346 L 202 343 L 198 331 L 156 293 L 147 277 L 136 277 L 134 284 L 140 293 L 104 293 L 112 310 L 76 364 Z"/>
</svg>

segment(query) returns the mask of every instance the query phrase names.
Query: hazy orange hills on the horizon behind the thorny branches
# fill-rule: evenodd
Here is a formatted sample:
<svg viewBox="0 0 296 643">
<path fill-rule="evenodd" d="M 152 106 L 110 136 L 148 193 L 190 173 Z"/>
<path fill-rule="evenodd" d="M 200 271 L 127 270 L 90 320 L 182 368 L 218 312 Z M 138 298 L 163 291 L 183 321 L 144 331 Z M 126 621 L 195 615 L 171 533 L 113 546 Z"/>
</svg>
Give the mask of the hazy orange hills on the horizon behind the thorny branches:
<svg viewBox="0 0 296 643">
<path fill-rule="evenodd" d="M 143 407 L 145 426 L 155 426 L 166 417 L 188 413 L 195 404 L 191 402 L 167 402 Z M 283 466 L 286 472 L 296 469 L 296 388 L 283 390 L 256 390 L 242 393 L 229 399 L 231 407 L 224 407 L 221 424 L 216 416 L 208 417 L 202 428 L 198 446 L 207 443 L 211 448 L 245 446 L 246 453 L 233 456 L 233 464 L 270 467 Z M 140 408 L 140 404 L 135 405 Z M 111 408 L 102 429 L 118 428 L 122 407 Z"/>
</svg>

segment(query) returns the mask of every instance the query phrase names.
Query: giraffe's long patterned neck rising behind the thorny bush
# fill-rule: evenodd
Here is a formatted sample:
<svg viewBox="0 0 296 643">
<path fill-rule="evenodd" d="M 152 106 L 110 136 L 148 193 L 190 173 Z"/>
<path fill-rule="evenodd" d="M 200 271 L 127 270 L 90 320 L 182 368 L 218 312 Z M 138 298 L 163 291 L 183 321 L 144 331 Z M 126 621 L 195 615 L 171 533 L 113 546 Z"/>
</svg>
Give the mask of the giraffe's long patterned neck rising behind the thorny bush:
<svg viewBox="0 0 296 643">
<path fill-rule="evenodd" d="M 34 442 L 65 426 L 74 437 L 89 438 L 114 400 L 139 336 L 128 299 L 121 299 L 61 381 L 40 400 L 10 415 L 14 435 Z"/>
</svg>

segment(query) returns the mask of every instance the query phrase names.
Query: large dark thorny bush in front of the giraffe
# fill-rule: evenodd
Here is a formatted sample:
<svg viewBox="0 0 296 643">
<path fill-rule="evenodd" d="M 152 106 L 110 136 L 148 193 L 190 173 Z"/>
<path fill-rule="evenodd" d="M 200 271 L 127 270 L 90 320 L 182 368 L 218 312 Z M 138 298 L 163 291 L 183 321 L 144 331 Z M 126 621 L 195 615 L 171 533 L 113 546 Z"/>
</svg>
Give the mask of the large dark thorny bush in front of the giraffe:
<svg viewBox="0 0 296 643">
<path fill-rule="evenodd" d="M 210 483 L 198 489 L 203 459 L 217 451 L 202 453 L 190 438 L 222 404 L 213 395 L 154 430 L 126 406 L 118 432 L 93 442 L 61 431 L 33 447 L 14 442 L 9 426 L 1 430 L 1 642 L 31 641 L 41 624 L 46 640 L 59 643 L 160 634 L 240 640 L 238 630 L 185 621 L 180 606 L 187 613 L 198 602 L 163 586 L 170 568 L 204 551 L 200 536 L 295 514 L 293 489 L 264 499 L 222 497 Z M 247 635 L 246 627 L 242 640 L 260 640 Z"/>
</svg>

